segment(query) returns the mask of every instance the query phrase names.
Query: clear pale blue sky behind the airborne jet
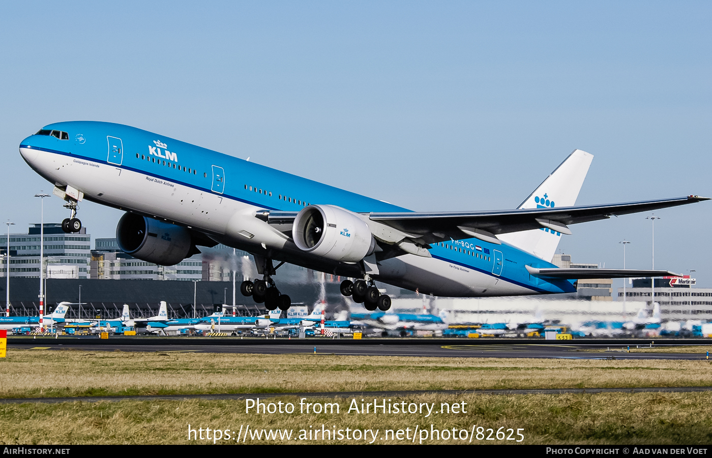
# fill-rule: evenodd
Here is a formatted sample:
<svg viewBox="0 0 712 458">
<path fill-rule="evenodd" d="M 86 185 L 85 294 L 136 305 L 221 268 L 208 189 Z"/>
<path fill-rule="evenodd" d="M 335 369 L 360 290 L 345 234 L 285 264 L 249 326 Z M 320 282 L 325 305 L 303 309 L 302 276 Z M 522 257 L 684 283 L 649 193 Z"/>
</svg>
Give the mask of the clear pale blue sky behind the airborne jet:
<svg viewBox="0 0 712 458">
<path fill-rule="evenodd" d="M 577 203 L 712 196 L 709 2 L 7 2 L 0 219 L 50 183 L 18 145 L 92 119 L 412 208 L 513 208 L 573 149 Z M 66 218 L 46 200 L 47 221 Z M 83 203 L 93 237 L 119 211 Z M 657 212 L 655 265 L 712 286 L 712 203 Z M 647 215 L 575 225 L 578 262 L 649 268 Z M 617 282 L 620 285 L 620 282 Z"/>
</svg>

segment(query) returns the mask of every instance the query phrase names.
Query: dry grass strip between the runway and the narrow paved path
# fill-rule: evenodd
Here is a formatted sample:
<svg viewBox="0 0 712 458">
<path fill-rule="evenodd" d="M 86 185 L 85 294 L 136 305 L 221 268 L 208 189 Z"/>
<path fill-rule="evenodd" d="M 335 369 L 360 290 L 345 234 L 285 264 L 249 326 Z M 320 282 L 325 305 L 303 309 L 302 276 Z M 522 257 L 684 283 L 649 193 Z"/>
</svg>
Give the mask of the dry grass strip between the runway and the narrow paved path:
<svg viewBox="0 0 712 458">
<path fill-rule="evenodd" d="M 710 361 L 16 350 L 0 398 L 708 386 Z"/>
</svg>

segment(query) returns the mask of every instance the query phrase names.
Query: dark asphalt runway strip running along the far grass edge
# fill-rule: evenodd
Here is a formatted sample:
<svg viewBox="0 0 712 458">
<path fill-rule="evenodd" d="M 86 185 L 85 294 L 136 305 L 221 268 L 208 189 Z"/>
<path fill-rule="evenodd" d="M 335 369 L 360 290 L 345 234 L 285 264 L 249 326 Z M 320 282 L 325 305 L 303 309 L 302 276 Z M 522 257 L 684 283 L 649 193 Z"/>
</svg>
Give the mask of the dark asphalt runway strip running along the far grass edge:
<svg viewBox="0 0 712 458">
<path fill-rule="evenodd" d="M 708 342 L 706 344 L 709 345 Z M 638 344 L 648 347 L 648 344 Z M 679 344 L 678 344 L 679 345 Z M 157 341 L 147 341 L 141 344 L 132 341 L 131 344 L 122 344 L 120 339 L 115 341 L 99 342 L 87 339 L 84 341 L 63 339 L 61 343 L 55 339 L 33 341 L 27 339 L 18 344 L 9 342 L 9 351 L 12 348 L 31 348 L 38 350 L 61 350 L 74 348 L 81 351 L 147 351 L 147 352 L 200 352 L 200 353 L 258 353 L 258 354 L 303 354 L 313 355 L 339 355 L 339 356 L 420 356 L 436 358 L 565 358 L 565 359 L 705 359 L 706 353 L 664 353 L 656 352 L 669 346 L 669 344 L 656 344 L 654 348 L 637 352 L 637 345 L 616 345 L 614 343 L 601 344 L 468 344 L 461 341 L 449 341 L 448 344 L 414 344 L 414 345 L 389 345 L 389 344 L 356 344 L 350 341 L 348 345 L 336 344 L 334 341 L 301 341 L 299 344 L 279 344 L 273 341 L 259 344 L 251 341 L 249 344 L 239 344 L 235 341 L 230 345 L 210 345 L 201 341 L 198 344 L 189 342 L 182 344 L 174 341 L 172 344 L 162 344 Z M 630 352 L 628 348 L 630 347 Z"/>
</svg>

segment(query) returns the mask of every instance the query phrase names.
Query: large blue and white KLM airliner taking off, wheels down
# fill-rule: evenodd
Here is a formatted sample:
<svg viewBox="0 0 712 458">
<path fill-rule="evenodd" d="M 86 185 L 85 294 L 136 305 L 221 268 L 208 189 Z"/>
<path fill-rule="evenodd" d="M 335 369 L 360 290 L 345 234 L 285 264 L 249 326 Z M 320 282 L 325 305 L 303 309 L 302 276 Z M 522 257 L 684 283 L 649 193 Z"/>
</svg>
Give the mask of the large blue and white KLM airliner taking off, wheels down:
<svg viewBox="0 0 712 458">
<path fill-rule="evenodd" d="M 686 196 L 575 206 L 593 156 L 575 150 L 514 210 L 415 212 L 283 171 L 107 122 L 49 124 L 20 144 L 82 227 L 84 199 L 125 211 L 116 237 L 133 257 L 175 265 L 199 246 L 254 255 L 260 278 L 241 284 L 270 310 L 291 301 L 273 277 L 284 262 L 354 278 L 341 292 L 389 309 L 375 281 L 446 297 L 575 292 L 576 279 L 661 277 L 664 270 L 559 269 L 570 225 L 708 200 Z M 275 265 L 275 262 L 279 262 Z"/>
</svg>

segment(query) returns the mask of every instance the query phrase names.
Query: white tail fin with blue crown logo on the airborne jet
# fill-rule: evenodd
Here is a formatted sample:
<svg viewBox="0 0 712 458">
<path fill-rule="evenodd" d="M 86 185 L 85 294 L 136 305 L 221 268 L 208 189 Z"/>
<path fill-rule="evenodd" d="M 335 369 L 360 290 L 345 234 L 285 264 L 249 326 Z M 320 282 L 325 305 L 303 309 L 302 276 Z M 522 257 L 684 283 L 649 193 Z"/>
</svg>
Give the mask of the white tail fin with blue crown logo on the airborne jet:
<svg viewBox="0 0 712 458">
<path fill-rule="evenodd" d="M 592 160 L 593 154 L 575 149 L 518 208 L 574 206 Z M 550 262 L 559 245 L 561 233 L 541 228 L 502 234 L 498 238 Z"/>
</svg>

